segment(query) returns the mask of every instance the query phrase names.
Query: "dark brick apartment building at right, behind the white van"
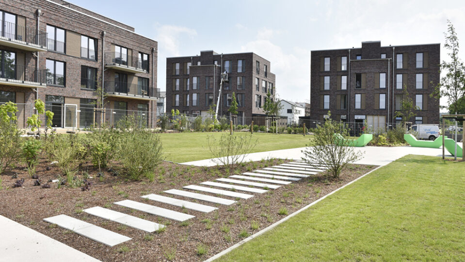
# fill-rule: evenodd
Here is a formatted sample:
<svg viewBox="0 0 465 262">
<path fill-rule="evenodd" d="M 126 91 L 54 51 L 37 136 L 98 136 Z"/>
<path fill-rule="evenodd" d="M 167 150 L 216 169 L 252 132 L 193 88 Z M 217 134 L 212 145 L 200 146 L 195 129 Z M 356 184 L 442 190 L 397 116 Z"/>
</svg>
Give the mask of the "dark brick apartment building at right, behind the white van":
<svg viewBox="0 0 465 262">
<path fill-rule="evenodd" d="M 439 101 L 430 98 L 439 82 L 440 44 L 311 51 L 311 114 L 323 120 L 363 123 L 373 129 L 400 122 L 402 88 L 418 107 L 414 123 L 439 123 Z"/>
</svg>

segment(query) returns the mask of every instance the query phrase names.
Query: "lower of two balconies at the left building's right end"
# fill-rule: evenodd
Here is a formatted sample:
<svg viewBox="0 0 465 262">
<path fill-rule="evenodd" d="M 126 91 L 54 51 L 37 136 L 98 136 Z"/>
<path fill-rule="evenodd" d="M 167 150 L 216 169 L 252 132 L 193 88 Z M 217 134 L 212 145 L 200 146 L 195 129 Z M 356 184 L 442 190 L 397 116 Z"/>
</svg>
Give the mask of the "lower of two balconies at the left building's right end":
<svg viewBox="0 0 465 262">
<path fill-rule="evenodd" d="M 160 97 L 160 89 L 158 88 L 114 81 L 105 81 L 105 93 L 109 97 L 141 100 L 156 100 Z"/>
</svg>

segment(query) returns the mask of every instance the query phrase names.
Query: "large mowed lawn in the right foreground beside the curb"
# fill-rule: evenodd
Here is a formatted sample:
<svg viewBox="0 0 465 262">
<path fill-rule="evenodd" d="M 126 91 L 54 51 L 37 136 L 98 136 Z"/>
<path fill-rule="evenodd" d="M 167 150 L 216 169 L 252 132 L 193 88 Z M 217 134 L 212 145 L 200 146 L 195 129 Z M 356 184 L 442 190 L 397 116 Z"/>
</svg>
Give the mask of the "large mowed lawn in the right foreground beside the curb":
<svg viewBox="0 0 465 262">
<path fill-rule="evenodd" d="M 216 261 L 465 261 L 464 236 L 465 163 L 409 155 Z"/>
</svg>

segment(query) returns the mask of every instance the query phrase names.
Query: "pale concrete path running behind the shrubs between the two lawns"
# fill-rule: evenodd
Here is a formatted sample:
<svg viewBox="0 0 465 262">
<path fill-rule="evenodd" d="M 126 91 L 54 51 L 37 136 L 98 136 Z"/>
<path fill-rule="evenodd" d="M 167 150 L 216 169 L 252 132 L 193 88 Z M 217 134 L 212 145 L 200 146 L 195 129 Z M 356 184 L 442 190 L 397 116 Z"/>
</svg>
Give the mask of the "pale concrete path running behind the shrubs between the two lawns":
<svg viewBox="0 0 465 262">
<path fill-rule="evenodd" d="M 424 148 L 424 147 L 354 147 L 357 151 L 364 151 L 365 154 L 360 161 L 355 164 L 372 164 L 372 165 L 385 165 L 389 164 L 396 159 L 403 156 L 412 155 L 425 155 L 425 156 L 442 156 L 442 148 Z M 248 154 L 244 161 L 260 161 L 262 159 L 282 158 L 282 159 L 302 159 L 304 154 L 302 150 L 305 147 L 282 149 L 266 152 L 257 152 Z M 450 156 L 446 150 L 446 156 Z M 205 159 L 198 161 L 191 161 L 182 164 L 189 164 L 195 166 L 214 166 L 217 165 L 215 159 Z"/>
</svg>

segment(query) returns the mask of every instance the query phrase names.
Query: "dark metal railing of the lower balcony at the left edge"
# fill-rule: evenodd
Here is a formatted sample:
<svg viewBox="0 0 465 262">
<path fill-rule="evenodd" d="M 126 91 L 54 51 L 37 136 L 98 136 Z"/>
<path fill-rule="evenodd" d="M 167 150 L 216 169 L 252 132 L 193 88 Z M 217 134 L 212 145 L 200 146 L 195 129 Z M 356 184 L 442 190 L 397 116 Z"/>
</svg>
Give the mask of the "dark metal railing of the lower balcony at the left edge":
<svg viewBox="0 0 465 262">
<path fill-rule="evenodd" d="M 0 63 L 0 79 L 16 80 L 19 82 L 46 83 L 46 69 L 37 69 L 32 66 L 15 65 L 15 63 Z"/>
</svg>

